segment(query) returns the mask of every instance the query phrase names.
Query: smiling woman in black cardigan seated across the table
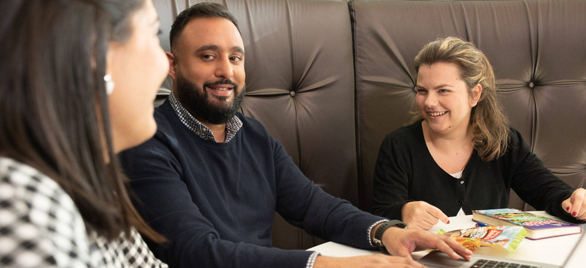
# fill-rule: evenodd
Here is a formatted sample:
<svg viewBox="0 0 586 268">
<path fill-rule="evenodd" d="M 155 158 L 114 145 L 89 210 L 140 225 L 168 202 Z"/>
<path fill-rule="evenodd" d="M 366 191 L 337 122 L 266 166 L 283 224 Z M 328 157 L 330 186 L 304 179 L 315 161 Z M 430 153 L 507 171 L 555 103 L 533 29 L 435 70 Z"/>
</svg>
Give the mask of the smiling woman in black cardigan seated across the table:
<svg viewBox="0 0 586 268">
<path fill-rule="evenodd" d="M 430 229 L 448 216 L 506 208 L 512 188 L 537 209 L 586 219 L 586 190 L 554 176 L 510 128 L 482 51 L 447 37 L 425 45 L 414 65 L 418 108 L 380 146 L 374 214 Z"/>
</svg>

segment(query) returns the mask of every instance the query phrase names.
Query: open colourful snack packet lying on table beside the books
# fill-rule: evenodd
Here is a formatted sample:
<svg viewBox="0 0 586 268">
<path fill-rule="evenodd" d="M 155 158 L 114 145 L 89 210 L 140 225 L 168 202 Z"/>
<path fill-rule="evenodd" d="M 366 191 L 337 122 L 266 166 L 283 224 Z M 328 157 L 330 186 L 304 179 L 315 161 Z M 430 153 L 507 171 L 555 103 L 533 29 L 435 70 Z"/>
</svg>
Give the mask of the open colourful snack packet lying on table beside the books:
<svg viewBox="0 0 586 268">
<path fill-rule="evenodd" d="M 522 226 L 485 226 L 449 232 L 440 230 L 438 233 L 455 239 L 469 250 L 481 246 L 502 246 L 509 252 L 515 251 L 521 240 L 527 236 L 527 230 Z"/>
</svg>

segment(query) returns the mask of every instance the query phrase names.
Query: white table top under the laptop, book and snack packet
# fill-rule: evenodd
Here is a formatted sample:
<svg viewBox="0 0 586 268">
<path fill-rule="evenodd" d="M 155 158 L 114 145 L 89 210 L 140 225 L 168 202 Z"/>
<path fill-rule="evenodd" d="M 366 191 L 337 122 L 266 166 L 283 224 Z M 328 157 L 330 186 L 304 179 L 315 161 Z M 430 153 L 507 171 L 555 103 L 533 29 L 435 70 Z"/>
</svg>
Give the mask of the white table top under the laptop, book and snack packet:
<svg viewBox="0 0 586 268">
<path fill-rule="evenodd" d="M 549 218 L 553 217 L 545 211 L 530 211 L 533 214 L 544 215 Z M 456 229 L 466 229 L 475 227 L 476 222 L 472 221 L 472 215 L 462 217 L 449 217 L 449 224 L 440 222 L 430 229 L 431 232 L 437 233 L 440 229 L 444 231 L 452 231 Z M 582 224 L 582 232 L 585 231 L 586 224 Z M 550 263 L 556 265 L 563 265 L 565 260 L 570 256 L 570 251 L 574 248 L 580 239 L 580 234 L 557 236 L 554 238 L 544 238 L 540 240 L 523 239 L 515 252 L 510 253 L 504 248 L 488 248 L 482 247 L 476 249 L 475 255 L 486 255 L 496 257 L 508 257 L 517 260 L 528 260 L 530 262 Z M 322 245 L 314 246 L 311 251 L 319 252 L 323 256 L 330 257 L 353 257 L 361 255 L 370 255 L 380 253 L 376 250 L 357 249 L 352 246 L 342 245 L 335 242 L 327 242 Z M 418 260 L 425 256 L 428 251 L 414 252 L 411 254 L 413 259 Z"/>
</svg>

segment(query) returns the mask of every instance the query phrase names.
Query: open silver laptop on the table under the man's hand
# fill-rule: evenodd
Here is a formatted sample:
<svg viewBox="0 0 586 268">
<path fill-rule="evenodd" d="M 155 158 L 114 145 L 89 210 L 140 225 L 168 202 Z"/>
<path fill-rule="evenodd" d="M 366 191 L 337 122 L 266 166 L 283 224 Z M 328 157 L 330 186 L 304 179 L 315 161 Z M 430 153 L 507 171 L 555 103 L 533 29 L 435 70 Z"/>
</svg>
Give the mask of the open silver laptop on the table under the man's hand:
<svg viewBox="0 0 586 268">
<path fill-rule="evenodd" d="M 445 253 L 435 250 L 425 255 L 417 262 L 429 268 L 577 268 L 586 267 L 586 236 L 582 231 L 581 238 L 572 250 L 570 257 L 565 260 L 563 266 L 528 262 L 526 260 L 516 260 L 502 257 L 472 255 L 470 260 L 454 260 Z M 579 255 L 579 256 L 578 256 Z"/>
</svg>

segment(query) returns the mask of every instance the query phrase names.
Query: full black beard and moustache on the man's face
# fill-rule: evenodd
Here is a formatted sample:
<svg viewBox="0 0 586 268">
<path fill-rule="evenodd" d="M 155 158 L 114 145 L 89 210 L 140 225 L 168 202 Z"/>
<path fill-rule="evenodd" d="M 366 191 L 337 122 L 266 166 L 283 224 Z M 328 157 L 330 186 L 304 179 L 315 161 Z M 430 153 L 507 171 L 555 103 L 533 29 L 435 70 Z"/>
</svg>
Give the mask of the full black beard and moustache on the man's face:
<svg viewBox="0 0 586 268">
<path fill-rule="evenodd" d="M 230 79 L 224 79 L 216 81 L 214 83 L 203 83 L 203 88 L 197 87 L 196 84 L 183 77 L 179 72 L 176 73 L 176 88 L 177 98 L 189 112 L 193 113 L 193 116 L 202 119 L 205 122 L 212 123 L 214 125 L 221 125 L 230 121 L 231 118 L 236 115 L 242 99 L 244 99 L 244 92 L 246 92 L 246 86 L 243 86 L 239 90 L 238 85 L 232 82 Z M 213 87 L 214 85 L 230 84 L 234 91 L 234 101 L 232 103 L 227 102 L 227 96 L 216 96 L 220 102 L 219 105 L 210 102 L 209 94 L 207 94 L 207 87 Z"/>
</svg>

